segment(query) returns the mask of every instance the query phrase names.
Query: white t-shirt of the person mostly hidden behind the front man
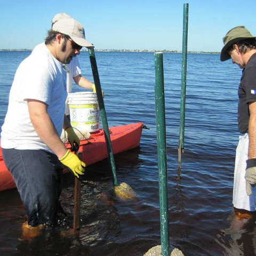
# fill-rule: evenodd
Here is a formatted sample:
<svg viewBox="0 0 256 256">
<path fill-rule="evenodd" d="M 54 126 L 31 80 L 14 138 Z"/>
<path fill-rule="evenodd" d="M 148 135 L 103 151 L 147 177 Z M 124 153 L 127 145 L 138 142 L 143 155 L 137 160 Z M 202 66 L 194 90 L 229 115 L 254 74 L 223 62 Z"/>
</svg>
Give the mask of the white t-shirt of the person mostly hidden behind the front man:
<svg viewBox="0 0 256 256">
<path fill-rule="evenodd" d="M 33 52 L 45 47 L 44 43 L 36 45 Z M 65 64 L 65 70 L 67 72 L 67 92 L 72 92 L 73 77 L 81 75 L 80 63 L 77 56 L 75 56 L 69 64 Z M 68 100 L 66 100 L 65 115 L 69 115 Z"/>
</svg>

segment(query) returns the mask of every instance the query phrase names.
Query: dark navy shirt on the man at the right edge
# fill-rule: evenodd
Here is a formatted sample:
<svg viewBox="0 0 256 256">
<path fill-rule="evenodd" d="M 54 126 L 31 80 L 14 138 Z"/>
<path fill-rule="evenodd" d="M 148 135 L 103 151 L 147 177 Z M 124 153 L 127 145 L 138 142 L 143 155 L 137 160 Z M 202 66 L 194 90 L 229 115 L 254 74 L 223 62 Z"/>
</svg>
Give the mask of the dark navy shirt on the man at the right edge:
<svg viewBox="0 0 256 256">
<path fill-rule="evenodd" d="M 238 87 L 238 130 L 248 132 L 249 102 L 256 101 L 256 53 L 254 53 L 243 69 L 243 74 Z"/>
</svg>

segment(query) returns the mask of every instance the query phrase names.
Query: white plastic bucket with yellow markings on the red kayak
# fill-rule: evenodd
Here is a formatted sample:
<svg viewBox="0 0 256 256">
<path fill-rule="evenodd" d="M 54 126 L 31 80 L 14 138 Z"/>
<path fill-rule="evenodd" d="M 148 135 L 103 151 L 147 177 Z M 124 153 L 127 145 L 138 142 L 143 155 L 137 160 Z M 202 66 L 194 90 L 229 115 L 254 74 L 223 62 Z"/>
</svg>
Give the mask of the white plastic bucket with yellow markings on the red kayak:
<svg viewBox="0 0 256 256">
<path fill-rule="evenodd" d="M 77 130 L 99 131 L 99 104 L 93 92 L 68 93 L 70 123 Z"/>
</svg>

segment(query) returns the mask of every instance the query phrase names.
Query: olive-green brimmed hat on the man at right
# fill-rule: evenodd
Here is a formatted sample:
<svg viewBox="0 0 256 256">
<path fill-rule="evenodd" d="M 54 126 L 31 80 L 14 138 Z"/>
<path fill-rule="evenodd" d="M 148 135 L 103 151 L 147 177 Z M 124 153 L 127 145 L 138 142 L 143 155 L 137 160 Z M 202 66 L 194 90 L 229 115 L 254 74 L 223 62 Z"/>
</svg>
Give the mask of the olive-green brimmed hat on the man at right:
<svg viewBox="0 0 256 256">
<path fill-rule="evenodd" d="M 229 46 L 238 43 L 244 39 L 256 38 L 247 30 L 244 26 L 237 26 L 228 31 L 225 37 L 223 37 L 223 48 L 220 53 L 220 60 L 225 61 L 230 59 L 227 49 Z"/>
</svg>

